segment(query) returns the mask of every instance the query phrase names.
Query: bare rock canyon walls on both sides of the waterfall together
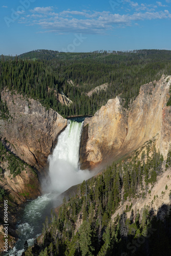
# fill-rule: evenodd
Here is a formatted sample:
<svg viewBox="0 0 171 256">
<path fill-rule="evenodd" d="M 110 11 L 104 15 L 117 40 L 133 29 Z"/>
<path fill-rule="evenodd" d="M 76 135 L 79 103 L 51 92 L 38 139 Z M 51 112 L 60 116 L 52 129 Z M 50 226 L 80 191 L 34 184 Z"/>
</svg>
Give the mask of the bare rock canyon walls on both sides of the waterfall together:
<svg viewBox="0 0 171 256">
<path fill-rule="evenodd" d="M 101 169 L 110 162 L 130 156 L 149 140 L 154 141 L 165 160 L 171 141 L 171 114 L 167 106 L 170 84 L 171 76 L 163 75 L 159 81 L 142 85 L 129 109 L 123 107 L 124 99 L 117 96 L 93 117 L 86 118 L 80 142 L 80 168 Z M 9 110 L 9 118 L 0 120 L 3 143 L 14 155 L 33 166 L 38 177 L 46 176 L 48 156 L 58 135 L 66 128 L 67 119 L 52 109 L 46 110 L 38 101 L 9 90 L 4 90 L 1 98 Z M 15 177 L 5 168 L 0 185 L 9 191 L 13 207 L 41 194 L 38 177 L 28 167 Z M 10 221 L 14 222 L 12 211 Z M 2 243 L 0 247 L 3 248 Z"/>
</svg>

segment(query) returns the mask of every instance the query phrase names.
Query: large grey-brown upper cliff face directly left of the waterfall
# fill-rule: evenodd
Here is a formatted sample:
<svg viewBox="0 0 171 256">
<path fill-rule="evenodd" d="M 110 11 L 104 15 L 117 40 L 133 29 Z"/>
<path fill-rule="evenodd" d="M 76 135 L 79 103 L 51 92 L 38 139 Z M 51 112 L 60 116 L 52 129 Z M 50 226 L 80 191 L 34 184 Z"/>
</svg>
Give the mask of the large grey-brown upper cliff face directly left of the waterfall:
<svg viewBox="0 0 171 256">
<path fill-rule="evenodd" d="M 2 92 L 12 118 L 0 120 L 1 137 L 6 138 L 11 150 L 27 163 L 41 169 L 67 120 L 57 112 L 47 110 L 36 100 L 25 99 L 9 91 Z"/>
</svg>

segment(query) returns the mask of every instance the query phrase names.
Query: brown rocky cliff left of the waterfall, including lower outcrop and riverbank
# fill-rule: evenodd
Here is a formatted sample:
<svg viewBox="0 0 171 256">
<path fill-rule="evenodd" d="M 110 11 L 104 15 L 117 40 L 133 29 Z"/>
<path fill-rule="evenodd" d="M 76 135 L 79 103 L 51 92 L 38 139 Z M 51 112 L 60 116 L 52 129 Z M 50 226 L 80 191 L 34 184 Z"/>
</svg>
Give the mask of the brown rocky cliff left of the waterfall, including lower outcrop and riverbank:
<svg viewBox="0 0 171 256">
<path fill-rule="evenodd" d="M 53 110 L 46 110 L 39 102 L 4 90 L 1 99 L 9 110 L 8 119 L 0 119 L 0 137 L 8 152 L 20 159 L 23 169 L 18 175 L 11 174 L 9 155 L 2 153 L 0 160 L 0 188 L 6 191 L 8 200 L 9 244 L 16 241 L 15 216 L 19 205 L 26 199 L 40 195 L 40 184 L 34 169 L 45 168 L 47 158 L 56 144 L 58 134 L 67 126 L 67 120 Z M 8 157 L 7 157 L 8 156 Z M 0 199 L 0 251 L 4 250 L 3 225 L 4 208 Z"/>
</svg>

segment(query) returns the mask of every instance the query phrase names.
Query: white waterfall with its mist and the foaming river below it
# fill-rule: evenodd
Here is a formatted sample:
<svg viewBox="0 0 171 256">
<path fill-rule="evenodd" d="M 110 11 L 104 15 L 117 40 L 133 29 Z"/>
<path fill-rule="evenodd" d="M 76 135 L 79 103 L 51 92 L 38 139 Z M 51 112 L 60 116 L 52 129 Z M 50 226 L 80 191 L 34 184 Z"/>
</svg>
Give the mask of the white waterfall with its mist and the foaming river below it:
<svg viewBox="0 0 171 256">
<path fill-rule="evenodd" d="M 59 136 L 53 154 L 49 156 L 50 182 L 42 182 L 42 188 L 48 193 L 39 196 L 33 201 L 23 205 L 18 213 L 17 229 L 18 241 L 15 247 L 5 255 L 22 255 L 24 243 L 27 240 L 29 246 L 34 244 L 34 239 L 41 234 L 42 223 L 46 216 L 50 219 L 51 209 L 62 202 L 60 194 L 69 187 L 81 183 L 95 175 L 89 170 L 79 169 L 79 146 L 83 122 L 68 120 L 68 125 Z"/>
</svg>

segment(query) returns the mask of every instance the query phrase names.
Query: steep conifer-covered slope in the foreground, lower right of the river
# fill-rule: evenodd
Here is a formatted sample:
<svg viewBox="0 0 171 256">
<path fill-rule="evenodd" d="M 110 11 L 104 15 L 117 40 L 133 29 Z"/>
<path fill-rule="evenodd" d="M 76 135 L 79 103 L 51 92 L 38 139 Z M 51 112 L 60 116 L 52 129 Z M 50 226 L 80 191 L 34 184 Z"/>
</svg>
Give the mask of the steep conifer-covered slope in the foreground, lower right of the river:
<svg viewBox="0 0 171 256">
<path fill-rule="evenodd" d="M 68 202 L 63 199 L 58 216 L 52 212 L 50 223 L 46 219 L 40 241 L 35 240 L 33 248 L 23 255 L 170 255 L 169 206 L 163 205 L 155 216 L 153 208 L 145 205 L 143 211 L 134 212 L 131 201 L 151 193 L 149 187 L 171 165 L 171 147 L 166 165 L 152 141 L 145 144 L 141 156 L 139 153 L 83 181 L 75 197 Z M 156 198 L 158 195 L 153 200 Z M 122 215 L 111 221 L 119 204 L 126 200 L 129 203 Z M 129 211 L 131 217 L 127 218 Z M 163 212 L 165 216 L 160 218 Z"/>
</svg>

